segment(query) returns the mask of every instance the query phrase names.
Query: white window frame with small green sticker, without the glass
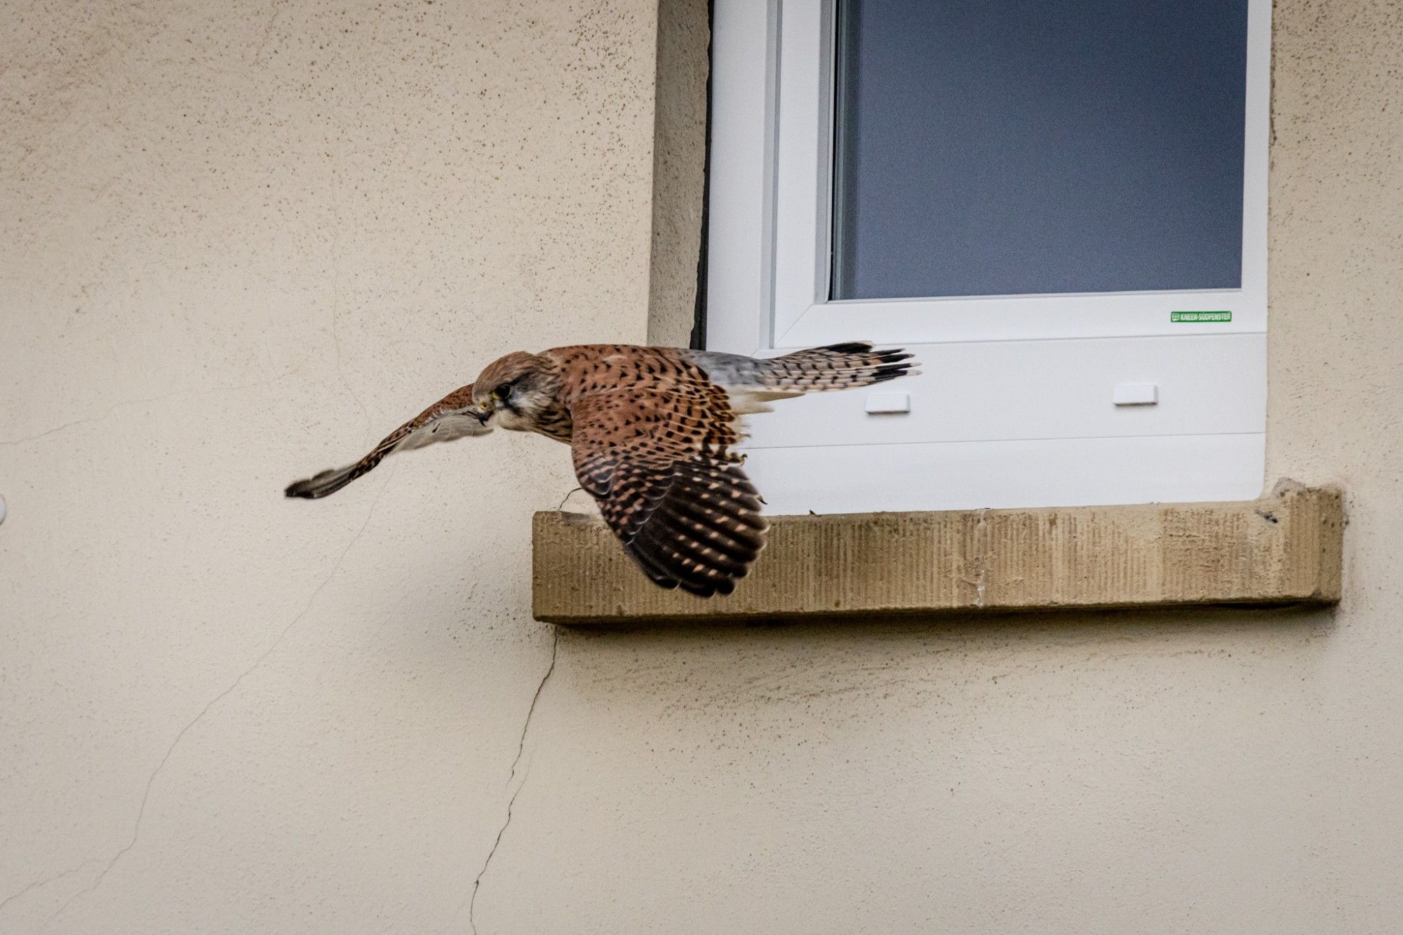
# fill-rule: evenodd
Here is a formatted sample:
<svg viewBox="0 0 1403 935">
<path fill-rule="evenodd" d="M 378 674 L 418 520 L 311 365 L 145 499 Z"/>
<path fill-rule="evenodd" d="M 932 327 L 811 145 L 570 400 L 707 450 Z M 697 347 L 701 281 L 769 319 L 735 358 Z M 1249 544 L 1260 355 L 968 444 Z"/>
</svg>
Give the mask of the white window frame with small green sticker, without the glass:
<svg viewBox="0 0 1403 935">
<path fill-rule="evenodd" d="M 899 300 L 828 299 L 835 8 L 716 0 L 707 346 L 770 356 L 868 339 L 911 346 L 926 374 L 881 387 L 908 391 L 911 416 L 867 415 L 854 393 L 756 418 L 752 474 L 774 512 L 1260 492 L 1270 0 L 1249 0 L 1240 289 Z M 1160 405 L 1115 407 L 1114 387 L 1132 381 L 1156 383 Z M 854 485 L 875 468 L 885 482 Z"/>
</svg>

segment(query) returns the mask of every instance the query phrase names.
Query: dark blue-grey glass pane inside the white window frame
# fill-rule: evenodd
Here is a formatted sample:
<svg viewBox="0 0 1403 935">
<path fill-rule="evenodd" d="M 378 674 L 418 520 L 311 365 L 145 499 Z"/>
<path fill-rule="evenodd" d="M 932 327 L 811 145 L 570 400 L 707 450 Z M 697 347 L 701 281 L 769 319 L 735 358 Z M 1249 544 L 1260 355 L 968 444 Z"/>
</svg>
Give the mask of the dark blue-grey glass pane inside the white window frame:
<svg viewBox="0 0 1403 935">
<path fill-rule="evenodd" d="M 833 297 L 1242 285 L 1247 0 L 839 0 Z"/>
</svg>

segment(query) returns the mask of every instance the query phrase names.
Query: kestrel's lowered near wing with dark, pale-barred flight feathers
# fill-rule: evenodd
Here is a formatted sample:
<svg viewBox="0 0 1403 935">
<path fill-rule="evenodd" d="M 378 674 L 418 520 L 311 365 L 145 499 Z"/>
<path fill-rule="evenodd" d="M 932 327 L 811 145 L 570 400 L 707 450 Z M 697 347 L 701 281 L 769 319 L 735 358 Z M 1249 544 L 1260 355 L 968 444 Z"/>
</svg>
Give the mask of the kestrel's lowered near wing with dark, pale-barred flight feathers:
<svg viewBox="0 0 1403 935">
<path fill-rule="evenodd" d="M 769 524 L 730 451 L 737 432 L 725 391 L 607 390 L 578 400 L 571 416 L 579 485 L 648 578 L 702 597 L 735 590 Z"/>
</svg>

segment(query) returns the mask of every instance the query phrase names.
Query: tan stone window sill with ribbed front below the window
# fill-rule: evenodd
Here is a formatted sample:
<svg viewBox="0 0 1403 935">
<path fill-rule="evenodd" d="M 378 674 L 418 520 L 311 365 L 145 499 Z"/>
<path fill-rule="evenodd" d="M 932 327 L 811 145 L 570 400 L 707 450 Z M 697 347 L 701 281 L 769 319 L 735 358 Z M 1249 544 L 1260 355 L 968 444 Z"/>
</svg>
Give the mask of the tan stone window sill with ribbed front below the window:
<svg viewBox="0 0 1403 935">
<path fill-rule="evenodd" d="M 1340 600 L 1338 491 L 1284 481 L 1258 500 L 774 517 L 728 597 L 645 579 L 603 523 L 537 513 L 536 620 L 748 622 Z"/>
</svg>

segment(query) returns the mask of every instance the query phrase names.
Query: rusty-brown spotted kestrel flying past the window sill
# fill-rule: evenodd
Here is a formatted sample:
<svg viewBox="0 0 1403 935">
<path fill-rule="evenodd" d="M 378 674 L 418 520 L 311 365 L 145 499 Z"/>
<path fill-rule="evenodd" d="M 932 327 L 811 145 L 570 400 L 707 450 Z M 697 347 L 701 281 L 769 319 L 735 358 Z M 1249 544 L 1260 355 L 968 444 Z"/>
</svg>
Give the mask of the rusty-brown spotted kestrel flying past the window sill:
<svg viewBox="0 0 1403 935">
<path fill-rule="evenodd" d="M 772 400 L 895 380 L 915 362 L 867 342 L 756 359 L 714 350 L 577 345 L 509 353 L 391 432 L 363 458 L 297 481 L 335 493 L 394 451 L 494 426 L 570 444 L 579 486 L 657 585 L 730 594 L 765 547 L 759 492 L 734 453 L 739 416 Z"/>
</svg>

